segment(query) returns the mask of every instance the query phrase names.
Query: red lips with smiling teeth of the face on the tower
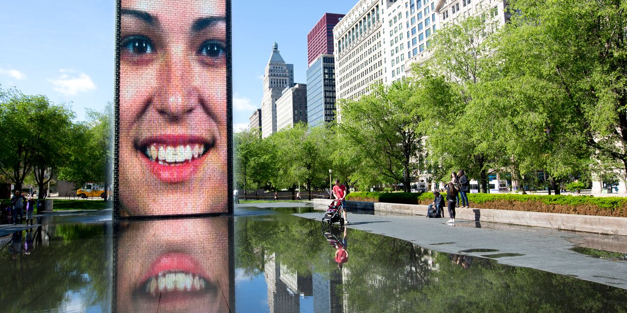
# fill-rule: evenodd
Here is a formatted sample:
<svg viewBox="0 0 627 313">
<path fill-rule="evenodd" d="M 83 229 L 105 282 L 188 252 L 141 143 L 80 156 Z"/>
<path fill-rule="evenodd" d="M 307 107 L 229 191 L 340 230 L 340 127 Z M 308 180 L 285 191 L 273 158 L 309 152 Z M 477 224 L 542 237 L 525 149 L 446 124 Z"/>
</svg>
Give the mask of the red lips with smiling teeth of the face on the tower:
<svg viewBox="0 0 627 313">
<path fill-rule="evenodd" d="M 198 172 L 203 156 L 214 146 L 201 136 L 162 135 L 135 141 L 150 172 L 166 183 L 180 183 Z"/>
</svg>

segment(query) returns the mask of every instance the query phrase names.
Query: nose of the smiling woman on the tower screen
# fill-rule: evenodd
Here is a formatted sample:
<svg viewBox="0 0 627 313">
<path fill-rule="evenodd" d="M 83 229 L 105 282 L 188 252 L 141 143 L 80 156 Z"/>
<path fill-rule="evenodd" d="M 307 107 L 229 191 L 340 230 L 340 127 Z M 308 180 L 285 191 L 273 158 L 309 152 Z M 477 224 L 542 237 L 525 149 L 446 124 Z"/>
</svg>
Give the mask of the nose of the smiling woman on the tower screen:
<svg viewBox="0 0 627 313">
<path fill-rule="evenodd" d="M 167 121 L 182 121 L 199 105 L 191 76 L 191 61 L 184 49 L 171 49 L 159 66 L 155 97 L 155 110 Z"/>
</svg>

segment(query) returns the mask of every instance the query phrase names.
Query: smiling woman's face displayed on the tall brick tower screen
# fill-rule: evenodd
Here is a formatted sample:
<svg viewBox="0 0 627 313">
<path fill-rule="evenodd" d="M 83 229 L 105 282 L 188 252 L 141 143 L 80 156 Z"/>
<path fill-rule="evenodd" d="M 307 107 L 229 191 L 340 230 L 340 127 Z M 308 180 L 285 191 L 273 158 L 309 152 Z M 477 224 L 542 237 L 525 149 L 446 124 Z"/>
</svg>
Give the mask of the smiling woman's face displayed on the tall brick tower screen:
<svg viewBox="0 0 627 313">
<path fill-rule="evenodd" d="M 225 212 L 225 1 L 122 0 L 120 13 L 120 215 Z"/>
</svg>

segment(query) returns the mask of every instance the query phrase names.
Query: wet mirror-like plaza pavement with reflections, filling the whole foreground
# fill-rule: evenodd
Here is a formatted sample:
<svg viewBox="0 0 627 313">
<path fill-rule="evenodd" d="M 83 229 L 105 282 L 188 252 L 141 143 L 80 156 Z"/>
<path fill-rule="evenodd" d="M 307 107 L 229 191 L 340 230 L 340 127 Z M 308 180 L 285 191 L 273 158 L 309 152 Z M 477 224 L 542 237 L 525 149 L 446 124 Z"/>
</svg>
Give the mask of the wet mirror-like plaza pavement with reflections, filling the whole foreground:
<svg viewBox="0 0 627 313">
<path fill-rule="evenodd" d="M 118 223 L 110 211 L 41 218 L 0 236 L 0 311 L 627 312 L 627 289 L 499 263 L 550 259 L 534 242 L 554 233 L 366 214 L 328 227 L 322 212 L 290 207 Z M 571 248 L 595 241 L 556 233 Z M 498 244 L 507 240 L 527 249 Z M 569 251 L 591 271 L 627 263 Z"/>
</svg>

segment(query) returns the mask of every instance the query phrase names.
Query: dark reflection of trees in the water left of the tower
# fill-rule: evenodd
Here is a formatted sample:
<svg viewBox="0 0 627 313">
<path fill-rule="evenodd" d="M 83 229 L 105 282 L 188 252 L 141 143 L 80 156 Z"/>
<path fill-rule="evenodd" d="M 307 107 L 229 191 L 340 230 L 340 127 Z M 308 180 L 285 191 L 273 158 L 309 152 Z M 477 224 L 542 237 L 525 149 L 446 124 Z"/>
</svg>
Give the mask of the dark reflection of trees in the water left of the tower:
<svg viewBox="0 0 627 313">
<path fill-rule="evenodd" d="M 0 281 L 10 281 L 3 289 L 12 290 L 0 293 L 3 312 L 17 312 L 28 304 L 29 310 L 58 311 L 68 305 L 72 293 L 80 294 L 85 305 L 96 304 L 97 300 L 106 305 L 106 299 L 98 296 L 110 283 L 107 227 L 68 224 L 48 229 L 47 247 L 45 227 L 38 227 L 33 230 L 31 254 L 22 253 L 12 259 L 6 249 L 0 251 Z"/>
</svg>

